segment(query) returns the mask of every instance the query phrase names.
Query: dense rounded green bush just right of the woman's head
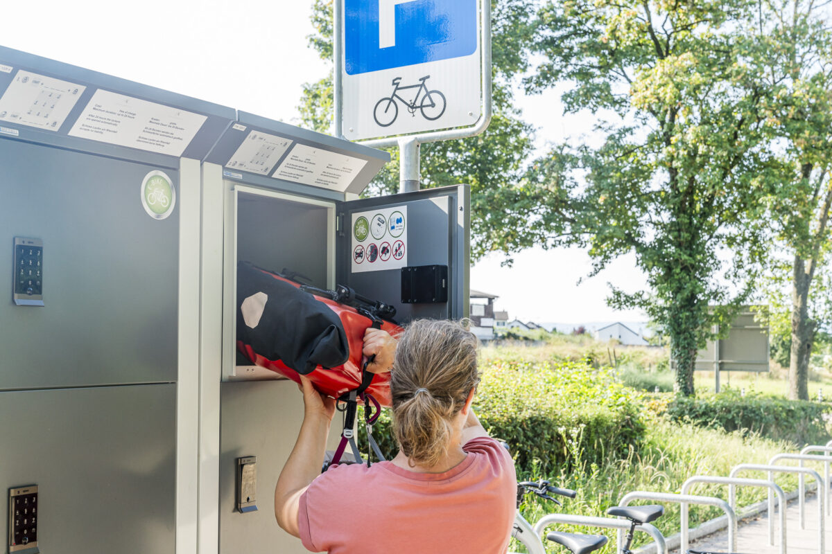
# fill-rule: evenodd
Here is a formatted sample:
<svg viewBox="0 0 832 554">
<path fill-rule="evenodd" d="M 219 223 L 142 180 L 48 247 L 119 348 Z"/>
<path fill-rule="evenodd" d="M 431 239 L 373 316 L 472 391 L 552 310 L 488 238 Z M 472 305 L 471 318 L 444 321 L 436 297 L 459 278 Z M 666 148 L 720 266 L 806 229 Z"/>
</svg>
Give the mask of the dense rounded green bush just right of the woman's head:
<svg viewBox="0 0 832 554">
<path fill-rule="evenodd" d="M 617 383 L 612 370 L 586 363 L 487 362 L 482 372 L 475 411 L 489 434 L 508 443 L 518 471 L 546 473 L 624 458 L 644 437 L 637 395 Z M 359 424 L 364 448 L 363 428 Z M 373 436 L 388 457 L 398 450 L 390 410 L 379 417 Z"/>
</svg>

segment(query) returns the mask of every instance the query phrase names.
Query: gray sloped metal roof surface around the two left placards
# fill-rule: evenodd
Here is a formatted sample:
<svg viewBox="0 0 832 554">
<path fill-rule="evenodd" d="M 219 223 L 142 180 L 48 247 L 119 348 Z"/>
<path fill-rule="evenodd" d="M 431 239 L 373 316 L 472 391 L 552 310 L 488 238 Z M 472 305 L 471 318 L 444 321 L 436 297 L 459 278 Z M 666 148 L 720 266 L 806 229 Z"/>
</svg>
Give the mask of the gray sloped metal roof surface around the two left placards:
<svg viewBox="0 0 832 554">
<path fill-rule="evenodd" d="M 126 96 L 206 115 L 207 120 L 205 124 L 202 125 L 194 139 L 191 140 L 191 144 L 186 147 L 186 150 L 182 154 L 186 158 L 202 159 L 210 148 L 215 145 L 216 140 L 219 139 L 223 131 L 230 125 L 230 121 L 236 117 L 236 111 L 226 106 L 201 101 L 189 96 L 182 96 L 175 92 L 164 91 L 134 81 L 119 79 L 118 77 L 105 75 L 82 67 L 71 66 L 41 56 L 34 56 L 27 52 L 12 50 L 12 48 L 0 47 L 0 63 L 12 66 L 15 70 L 24 69 L 33 71 L 40 75 L 52 76 L 77 83 L 78 85 L 87 86 L 87 90 L 84 91 L 67 117 L 67 120 L 57 132 L 37 130 L 26 125 L 15 125 L 6 121 L 2 122 L 4 127 L 19 130 L 21 139 L 24 140 L 32 140 L 42 144 L 57 145 L 62 148 L 103 154 L 122 159 L 136 159 L 145 163 L 158 164 L 165 167 L 176 167 L 178 166 L 178 161 L 175 156 L 153 154 L 144 150 L 107 145 L 95 140 L 71 137 L 67 133 L 72 128 L 72 125 L 74 125 L 77 117 L 81 115 L 87 102 L 98 89 L 113 91 Z M 0 91 L 6 89 L 16 73 L 17 71 L 10 73 L 0 72 Z M 160 158 L 166 161 L 160 161 Z"/>
</svg>

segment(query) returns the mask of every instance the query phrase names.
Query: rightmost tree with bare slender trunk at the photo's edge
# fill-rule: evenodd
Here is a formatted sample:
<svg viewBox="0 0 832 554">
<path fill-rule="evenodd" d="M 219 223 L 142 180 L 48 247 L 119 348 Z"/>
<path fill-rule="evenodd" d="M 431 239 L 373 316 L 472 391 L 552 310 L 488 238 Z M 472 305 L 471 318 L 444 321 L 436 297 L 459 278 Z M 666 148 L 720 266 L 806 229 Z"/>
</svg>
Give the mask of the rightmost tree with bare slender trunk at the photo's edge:
<svg viewBox="0 0 832 554">
<path fill-rule="evenodd" d="M 827 254 L 832 247 L 832 32 L 810 0 L 761 0 L 758 75 L 771 91 L 771 150 L 779 153 L 768 199 L 776 243 L 770 324 L 788 329 L 789 398 L 809 399 L 809 361 L 830 321 Z M 788 282 L 790 298 L 779 285 Z M 780 332 L 780 335 L 785 333 Z"/>
</svg>

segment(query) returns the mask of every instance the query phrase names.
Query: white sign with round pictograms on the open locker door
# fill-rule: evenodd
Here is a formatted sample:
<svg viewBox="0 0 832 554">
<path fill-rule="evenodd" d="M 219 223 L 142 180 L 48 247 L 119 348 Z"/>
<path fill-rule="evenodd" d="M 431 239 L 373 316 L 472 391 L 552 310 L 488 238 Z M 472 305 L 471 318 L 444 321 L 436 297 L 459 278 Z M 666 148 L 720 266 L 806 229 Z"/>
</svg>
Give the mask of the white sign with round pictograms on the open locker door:
<svg viewBox="0 0 832 554">
<path fill-rule="evenodd" d="M 379 272 L 408 265 L 408 207 L 353 213 L 352 272 Z"/>
</svg>

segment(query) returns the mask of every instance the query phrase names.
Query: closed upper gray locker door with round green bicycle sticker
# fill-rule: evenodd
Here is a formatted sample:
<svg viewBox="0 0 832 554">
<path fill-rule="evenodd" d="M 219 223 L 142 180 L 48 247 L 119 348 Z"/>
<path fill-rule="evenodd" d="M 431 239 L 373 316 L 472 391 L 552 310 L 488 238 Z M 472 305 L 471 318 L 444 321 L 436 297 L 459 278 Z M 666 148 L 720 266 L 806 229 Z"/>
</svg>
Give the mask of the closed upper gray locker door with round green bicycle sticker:
<svg viewBox="0 0 832 554">
<path fill-rule="evenodd" d="M 4 140 L 0 168 L 0 390 L 175 381 L 179 207 L 142 207 L 156 167 Z M 43 240 L 45 307 L 12 303 L 16 236 Z"/>
</svg>

